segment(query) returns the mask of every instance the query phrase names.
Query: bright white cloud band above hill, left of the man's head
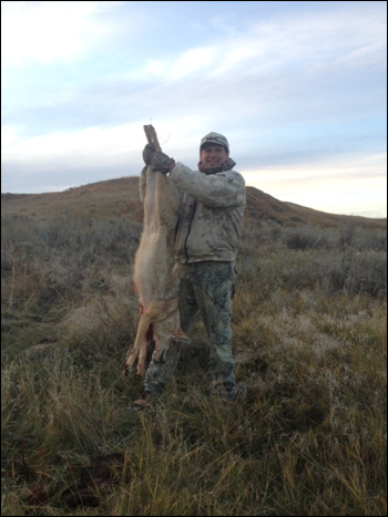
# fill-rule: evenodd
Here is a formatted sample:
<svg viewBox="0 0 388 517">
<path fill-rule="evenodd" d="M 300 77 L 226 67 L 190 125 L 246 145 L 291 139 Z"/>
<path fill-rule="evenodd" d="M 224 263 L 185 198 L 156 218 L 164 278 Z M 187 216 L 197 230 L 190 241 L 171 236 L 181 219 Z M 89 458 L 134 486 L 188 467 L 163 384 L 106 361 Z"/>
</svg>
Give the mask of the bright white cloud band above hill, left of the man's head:
<svg viewBox="0 0 388 517">
<path fill-rule="evenodd" d="M 3 126 L 2 192 L 44 192 L 63 189 L 122 175 L 139 175 L 143 166 L 142 149 L 146 144 L 143 125 L 152 120 L 137 120 L 115 126 L 92 126 L 72 132 L 55 132 L 23 137 L 21 127 Z M 195 167 L 203 117 L 192 115 L 172 122 L 157 121 L 162 148 L 174 149 L 176 159 L 191 156 Z M 187 162 L 186 162 L 187 163 Z M 65 178 L 65 179 L 64 179 Z M 83 178 L 83 179 L 82 179 Z"/>
</svg>

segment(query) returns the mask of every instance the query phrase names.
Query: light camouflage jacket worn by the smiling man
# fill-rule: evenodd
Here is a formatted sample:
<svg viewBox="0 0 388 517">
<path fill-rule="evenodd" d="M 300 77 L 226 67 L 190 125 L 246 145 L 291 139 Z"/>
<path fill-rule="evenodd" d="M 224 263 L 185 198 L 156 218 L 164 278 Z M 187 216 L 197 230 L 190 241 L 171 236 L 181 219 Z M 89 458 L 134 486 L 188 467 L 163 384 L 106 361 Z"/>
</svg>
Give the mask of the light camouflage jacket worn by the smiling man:
<svg viewBox="0 0 388 517">
<path fill-rule="evenodd" d="M 175 260 L 180 263 L 234 261 L 246 204 L 244 177 L 236 170 L 205 175 L 177 162 L 170 178 L 181 195 Z M 142 199 L 144 179 L 142 174 Z"/>
</svg>

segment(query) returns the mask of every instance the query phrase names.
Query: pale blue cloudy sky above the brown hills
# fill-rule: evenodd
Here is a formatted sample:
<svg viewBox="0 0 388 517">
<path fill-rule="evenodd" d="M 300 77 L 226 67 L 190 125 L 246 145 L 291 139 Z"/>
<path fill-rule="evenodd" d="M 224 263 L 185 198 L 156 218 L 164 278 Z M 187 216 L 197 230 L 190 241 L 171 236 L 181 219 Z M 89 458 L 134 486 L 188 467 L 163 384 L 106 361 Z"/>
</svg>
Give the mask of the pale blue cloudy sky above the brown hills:
<svg viewBox="0 0 388 517">
<path fill-rule="evenodd" d="M 1 192 L 139 176 L 215 131 L 270 196 L 387 217 L 385 1 L 2 1 Z"/>
</svg>

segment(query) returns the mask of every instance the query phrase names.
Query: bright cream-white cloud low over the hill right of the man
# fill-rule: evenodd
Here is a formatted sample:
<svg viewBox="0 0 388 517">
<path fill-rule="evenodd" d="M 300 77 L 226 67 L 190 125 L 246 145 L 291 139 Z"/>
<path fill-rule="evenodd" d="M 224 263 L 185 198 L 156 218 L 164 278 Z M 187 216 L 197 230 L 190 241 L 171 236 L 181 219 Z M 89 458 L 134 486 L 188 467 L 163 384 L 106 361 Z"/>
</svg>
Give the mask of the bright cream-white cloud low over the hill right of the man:
<svg viewBox="0 0 388 517">
<path fill-rule="evenodd" d="M 247 185 L 284 201 L 334 214 L 387 217 L 386 163 L 386 153 L 354 154 L 243 174 Z"/>
</svg>

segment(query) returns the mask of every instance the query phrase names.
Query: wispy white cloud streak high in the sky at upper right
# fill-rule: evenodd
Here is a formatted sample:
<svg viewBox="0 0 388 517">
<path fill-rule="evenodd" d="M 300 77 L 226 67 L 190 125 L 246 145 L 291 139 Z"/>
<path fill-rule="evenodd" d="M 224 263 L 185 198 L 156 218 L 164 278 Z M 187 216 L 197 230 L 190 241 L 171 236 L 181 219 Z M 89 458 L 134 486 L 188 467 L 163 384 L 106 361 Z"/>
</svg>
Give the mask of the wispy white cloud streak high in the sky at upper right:
<svg viewBox="0 0 388 517">
<path fill-rule="evenodd" d="M 136 74 L 139 76 L 180 80 L 192 74 L 212 76 L 238 71 L 244 73 L 329 73 L 343 66 L 358 68 L 370 64 L 377 56 L 384 65 L 386 23 L 374 12 L 294 14 L 276 22 L 253 21 L 244 31 L 228 31 L 226 35 L 210 38 L 211 43 L 176 51 L 171 58 L 151 59 Z M 296 66 L 296 69 L 295 69 Z"/>
</svg>

